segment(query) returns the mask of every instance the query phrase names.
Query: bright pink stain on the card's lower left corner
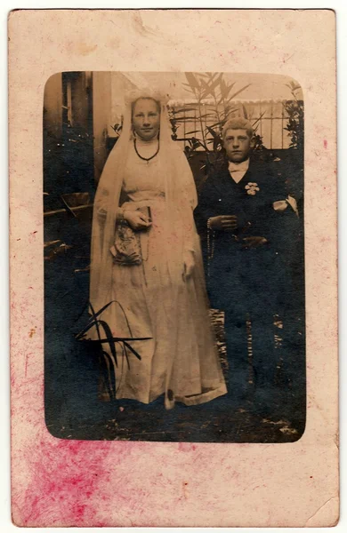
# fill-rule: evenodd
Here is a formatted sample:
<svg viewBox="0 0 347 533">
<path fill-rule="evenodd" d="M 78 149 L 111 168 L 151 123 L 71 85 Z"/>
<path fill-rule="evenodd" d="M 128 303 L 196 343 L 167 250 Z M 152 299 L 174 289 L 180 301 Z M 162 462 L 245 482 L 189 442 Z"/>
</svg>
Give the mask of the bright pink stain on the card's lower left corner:
<svg viewBox="0 0 347 533">
<path fill-rule="evenodd" d="M 23 494 L 12 498 L 13 520 L 24 527 L 105 527 L 98 520 L 103 503 L 102 488 L 109 483 L 106 459 L 112 442 L 68 441 L 44 432 L 34 452 L 26 455 L 33 473 Z M 119 447 L 117 465 L 129 453 L 131 444 Z M 109 494 L 113 498 L 114 494 Z M 17 516 L 17 512 L 19 516 Z"/>
</svg>

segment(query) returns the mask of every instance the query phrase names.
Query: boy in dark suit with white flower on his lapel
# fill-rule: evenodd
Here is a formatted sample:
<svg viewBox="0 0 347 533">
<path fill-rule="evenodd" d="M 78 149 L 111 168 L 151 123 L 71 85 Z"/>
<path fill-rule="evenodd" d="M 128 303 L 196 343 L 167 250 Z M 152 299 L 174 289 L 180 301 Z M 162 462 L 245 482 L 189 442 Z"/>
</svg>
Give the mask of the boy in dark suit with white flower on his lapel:
<svg viewBox="0 0 347 533">
<path fill-rule="evenodd" d="M 227 159 L 206 179 L 195 211 L 206 236 L 207 288 L 211 305 L 225 312 L 230 395 L 242 400 L 253 382 L 259 402 L 270 405 L 274 314 L 285 305 L 290 277 L 285 228 L 296 206 L 278 171 L 254 161 L 251 123 L 231 119 L 222 139 Z"/>
</svg>

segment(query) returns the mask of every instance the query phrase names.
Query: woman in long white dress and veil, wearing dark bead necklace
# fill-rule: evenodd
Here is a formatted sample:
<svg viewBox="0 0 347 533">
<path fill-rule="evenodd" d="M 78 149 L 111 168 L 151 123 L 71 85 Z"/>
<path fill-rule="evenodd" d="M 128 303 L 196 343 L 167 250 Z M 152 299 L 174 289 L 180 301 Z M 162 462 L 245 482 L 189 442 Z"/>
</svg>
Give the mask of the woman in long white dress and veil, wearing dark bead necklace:
<svg viewBox="0 0 347 533">
<path fill-rule="evenodd" d="M 141 361 L 118 363 L 115 395 L 149 403 L 165 394 L 166 409 L 209 402 L 227 390 L 210 330 L 194 179 L 171 138 L 165 100 L 143 94 L 126 104 L 95 195 L 90 300 L 95 310 L 117 301 L 102 313 L 114 337 L 149 339 L 130 342 Z"/>
</svg>

